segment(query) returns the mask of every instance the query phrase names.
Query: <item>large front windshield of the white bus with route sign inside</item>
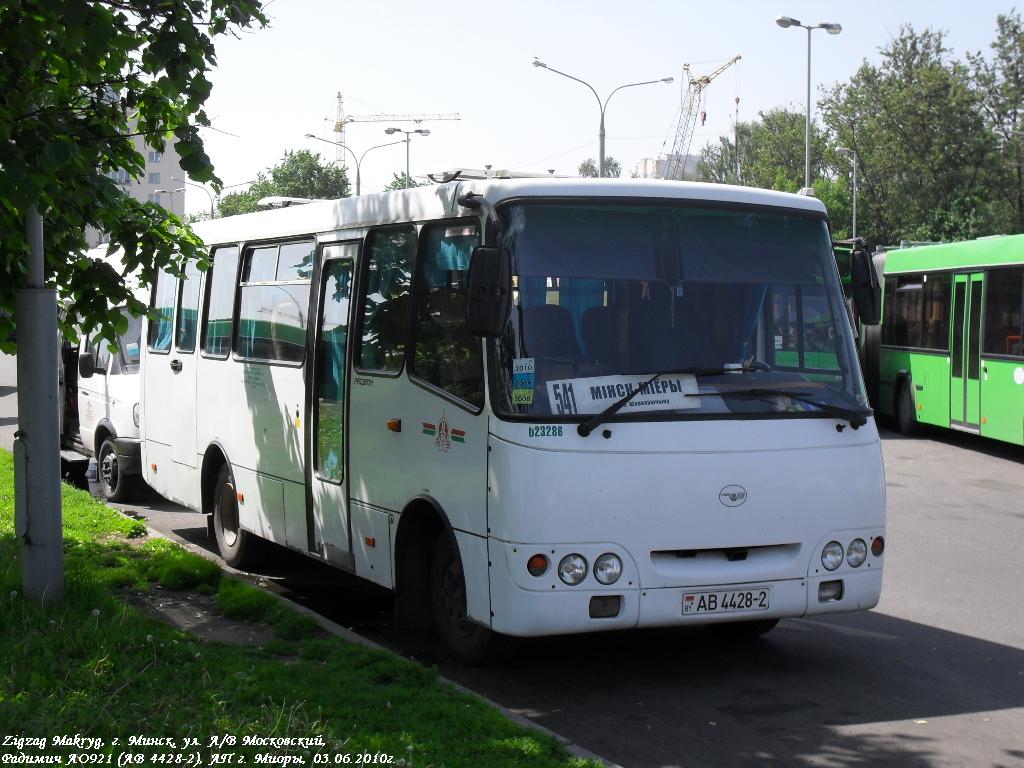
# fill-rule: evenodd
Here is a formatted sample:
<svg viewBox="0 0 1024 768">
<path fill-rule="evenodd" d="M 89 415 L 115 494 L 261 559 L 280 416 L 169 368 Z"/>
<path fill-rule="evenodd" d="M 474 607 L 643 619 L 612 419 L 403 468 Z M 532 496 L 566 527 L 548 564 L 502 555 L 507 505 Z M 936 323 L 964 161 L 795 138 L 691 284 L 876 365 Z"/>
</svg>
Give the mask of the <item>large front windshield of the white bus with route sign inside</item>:
<svg viewBox="0 0 1024 768">
<path fill-rule="evenodd" d="M 599 414 L 657 373 L 615 418 L 866 409 L 822 217 L 598 201 L 501 214 L 514 305 L 492 357 L 499 414 Z"/>
</svg>

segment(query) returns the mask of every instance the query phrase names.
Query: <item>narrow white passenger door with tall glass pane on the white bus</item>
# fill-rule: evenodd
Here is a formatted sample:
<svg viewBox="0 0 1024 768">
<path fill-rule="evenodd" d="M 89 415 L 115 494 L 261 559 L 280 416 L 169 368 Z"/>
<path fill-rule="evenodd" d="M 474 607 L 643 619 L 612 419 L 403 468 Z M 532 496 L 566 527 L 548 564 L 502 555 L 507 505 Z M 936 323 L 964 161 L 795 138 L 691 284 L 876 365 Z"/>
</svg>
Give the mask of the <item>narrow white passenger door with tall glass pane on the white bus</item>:
<svg viewBox="0 0 1024 768">
<path fill-rule="evenodd" d="M 309 387 L 310 444 L 307 476 L 310 509 L 306 518 L 309 552 L 351 569 L 346 390 L 348 326 L 352 289 L 352 244 L 324 249 L 317 293 L 312 382 Z M 339 256 L 340 258 L 336 258 Z"/>
</svg>

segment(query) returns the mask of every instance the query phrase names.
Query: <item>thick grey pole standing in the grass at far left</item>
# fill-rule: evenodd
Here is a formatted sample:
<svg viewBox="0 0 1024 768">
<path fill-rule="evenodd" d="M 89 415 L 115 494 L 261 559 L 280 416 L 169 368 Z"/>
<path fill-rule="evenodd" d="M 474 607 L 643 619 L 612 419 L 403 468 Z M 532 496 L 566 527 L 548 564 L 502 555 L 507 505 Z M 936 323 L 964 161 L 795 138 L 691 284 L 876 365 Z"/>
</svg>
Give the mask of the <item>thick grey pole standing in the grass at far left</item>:
<svg viewBox="0 0 1024 768">
<path fill-rule="evenodd" d="M 14 527 L 22 540 L 26 597 L 63 596 L 60 516 L 60 419 L 57 295 L 44 288 L 43 219 L 26 213 L 28 287 L 17 291 L 17 425 L 14 435 Z"/>
</svg>

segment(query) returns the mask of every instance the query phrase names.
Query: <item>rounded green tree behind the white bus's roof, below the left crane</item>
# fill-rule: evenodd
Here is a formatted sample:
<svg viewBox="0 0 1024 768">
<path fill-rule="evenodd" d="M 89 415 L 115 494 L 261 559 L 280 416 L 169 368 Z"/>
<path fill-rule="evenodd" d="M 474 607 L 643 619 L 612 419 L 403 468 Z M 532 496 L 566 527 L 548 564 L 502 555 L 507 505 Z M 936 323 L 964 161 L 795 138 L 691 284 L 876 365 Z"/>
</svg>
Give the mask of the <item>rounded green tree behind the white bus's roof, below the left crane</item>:
<svg viewBox="0 0 1024 768">
<path fill-rule="evenodd" d="M 286 152 L 268 173 L 260 171 L 245 191 L 225 195 L 217 203 L 219 216 L 234 216 L 260 210 L 257 203 L 271 195 L 310 200 L 336 200 L 349 195 L 345 168 L 322 162 L 318 153 L 308 150 Z"/>
</svg>

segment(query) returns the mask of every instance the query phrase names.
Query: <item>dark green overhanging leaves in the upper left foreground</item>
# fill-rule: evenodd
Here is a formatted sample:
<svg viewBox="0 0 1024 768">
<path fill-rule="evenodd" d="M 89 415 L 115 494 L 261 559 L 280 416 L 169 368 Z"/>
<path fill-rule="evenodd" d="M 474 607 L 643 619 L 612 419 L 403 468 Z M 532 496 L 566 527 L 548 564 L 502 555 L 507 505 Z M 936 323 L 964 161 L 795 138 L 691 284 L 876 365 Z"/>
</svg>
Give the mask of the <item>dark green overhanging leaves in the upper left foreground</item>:
<svg viewBox="0 0 1024 768">
<path fill-rule="evenodd" d="M 109 341 L 118 318 L 110 305 L 144 309 L 124 275 L 153 282 L 178 269 L 200 243 L 156 204 L 129 198 L 108 174 L 144 173 L 132 136 L 156 150 L 172 141 L 181 167 L 218 182 L 203 148 L 203 103 L 215 63 L 213 40 L 264 25 L 262 0 L 10 0 L 0 4 L 0 309 L 13 314 L 26 285 L 26 214 L 44 220 L 45 279 L 75 318 Z M 123 265 L 87 258 L 85 228 L 111 236 Z M 0 313 L 0 347 L 11 322 Z"/>
</svg>

